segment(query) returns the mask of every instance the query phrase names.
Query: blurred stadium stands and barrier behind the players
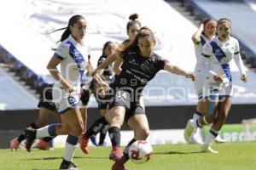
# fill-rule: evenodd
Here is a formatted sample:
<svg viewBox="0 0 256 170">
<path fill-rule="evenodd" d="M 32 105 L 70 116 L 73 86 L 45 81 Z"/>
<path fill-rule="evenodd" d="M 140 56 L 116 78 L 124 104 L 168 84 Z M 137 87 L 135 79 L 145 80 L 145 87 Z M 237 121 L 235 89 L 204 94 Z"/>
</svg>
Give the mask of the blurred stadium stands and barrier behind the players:
<svg viewBox="0 0 256 170">
<path fill-rule="evenodd" d="M 240 81 L 233 65 L 235 95 L 226 122 L 233 125 L 226 125 L 221 135 L 228 141 L 256 139 L 255 0 L 9 0 L 0 4 L 0 148 L 8 148 L 9 140 L 36 120 L 38 94 L 46 83 L 53 82 L 46 70 L 53 55 L 51 48 L 61 37 L 61 32 L 49 32 L 67 26 L 73 14 L 84 15 L 88 22 L 85 39 L 95 66 L 104 42 L 125 40 L 128 17 L 137 13 L 138 20 L 157 37 L 156 52 L 188 71 L 195 66 L 191 37 L 201 21 L 209 17 L 232 20 L 232 35 L 241 44 L 249 82 Z M 184 142 L 183 128 L 195 111 L 192 82 L 160 72 L 144 90 L 143 99 L 151 143 Z M 89 107 L 90 126 L 100 116 L 93 97 Z M 242 126 L 242 121 L 247 126 Z M 124 133 L 122 143 L 132 135 Z M 163 135 L 166 138 L 160 138 Z"/>
</svg>

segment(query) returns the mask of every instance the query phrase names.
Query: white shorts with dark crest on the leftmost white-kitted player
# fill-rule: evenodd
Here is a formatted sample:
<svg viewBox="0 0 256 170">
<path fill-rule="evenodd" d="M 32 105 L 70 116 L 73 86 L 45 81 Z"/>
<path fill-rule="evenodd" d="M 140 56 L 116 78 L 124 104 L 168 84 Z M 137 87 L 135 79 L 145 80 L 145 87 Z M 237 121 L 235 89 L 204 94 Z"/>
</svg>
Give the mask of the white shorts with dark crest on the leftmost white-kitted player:
<svg viewBox="0 0 256 170">
<path fill-rule="evenodd" d="M 52 90 L 52 98 L 55 103 L 57 111 L 61 113 L 65 113 L 77 105 L 79 105 L 79 93 L 75 91 L 71 94 L 67 94 L 67 92 L 59 87 L 54 87 Z"/>
</svg>

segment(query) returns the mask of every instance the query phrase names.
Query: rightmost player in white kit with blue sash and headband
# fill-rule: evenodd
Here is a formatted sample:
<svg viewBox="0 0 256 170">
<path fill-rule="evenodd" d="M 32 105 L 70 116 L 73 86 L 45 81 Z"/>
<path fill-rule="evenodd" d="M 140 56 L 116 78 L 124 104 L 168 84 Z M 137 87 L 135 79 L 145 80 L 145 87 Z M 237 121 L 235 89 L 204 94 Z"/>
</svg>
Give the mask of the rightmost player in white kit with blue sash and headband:
<svg viewBox="0 0 256 170">
<path fill-rule="evenodd" d="M 189 128 L 202 127 L 212 123 L 210 133 L 202 145 L 202 152 L 218 153 L 212 150 L 210 144 L 218 136 L 224 125 L 232 103 L 233 87 L 230 71 L 230 62 L 235 59 L 241 72 L 241 81 L 247 82 L 247 75 L 239 53 L 239 42 L 231 37 L 232 23 L 229 19 L 222 18 L 217 23 L 217 37 L 207 42 L 202 50 L 202 55 L 207 59 L 208 74 L 205 79 L 207 109 L 210 115 L 189 120 Z"/>
</svg>

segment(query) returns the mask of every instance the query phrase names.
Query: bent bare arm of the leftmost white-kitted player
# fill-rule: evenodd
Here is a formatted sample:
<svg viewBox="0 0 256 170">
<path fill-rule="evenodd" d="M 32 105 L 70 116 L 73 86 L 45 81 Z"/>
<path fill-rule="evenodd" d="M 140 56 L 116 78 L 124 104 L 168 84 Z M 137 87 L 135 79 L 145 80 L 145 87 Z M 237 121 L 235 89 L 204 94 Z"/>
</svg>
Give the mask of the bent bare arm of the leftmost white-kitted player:
<svg viewBox="0 0 256 170">
<path fill-rule="evenodd" d="M 61 59 L 53 56 L 49 60 L 47 69 L 48 69 L 49 73 L 51 74 L 51 76 L 54 77 L 56 81 L 61 82 L 61 85 L 68 93 L 72 93 L 73 92 L 72 86 L 67 82 L 67 80 L 65 80 L 64 77 L 61 76 L 60 71 L 57 69 L 57 65 L 59 65 L 60 63 L 61 63 Z"/>
</svg>

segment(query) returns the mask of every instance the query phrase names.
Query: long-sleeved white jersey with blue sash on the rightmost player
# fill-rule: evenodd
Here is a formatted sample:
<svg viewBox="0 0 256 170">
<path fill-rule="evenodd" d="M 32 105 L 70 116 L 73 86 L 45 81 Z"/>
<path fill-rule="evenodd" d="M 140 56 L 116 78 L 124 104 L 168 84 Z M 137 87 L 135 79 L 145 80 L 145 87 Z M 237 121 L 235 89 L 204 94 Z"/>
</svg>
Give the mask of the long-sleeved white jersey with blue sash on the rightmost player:
<svg viewBox="0 0 256 170">
<path fill-rule="evenodd" d="M 224 84 L 231 84 L 230 61 L 232 59 L 235 59 L 241 74 L 245 74 L 239 51 L 239 42 L 235 37 L 230 37 L 226 42 L 221 42 L 218 37 L 214 37 L 212 41 L 207 42 L 202 49 L 202 55 L 207 58 L 206 67 L 210 82 L 214 82 L 213 76 L 218 74 L 224 78 Z"/>
</svg>

